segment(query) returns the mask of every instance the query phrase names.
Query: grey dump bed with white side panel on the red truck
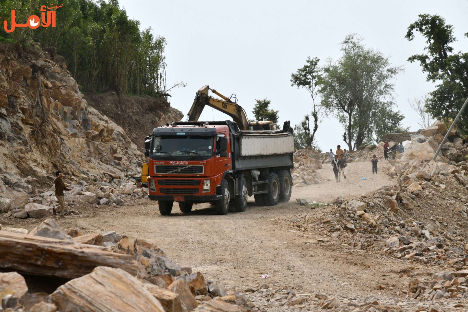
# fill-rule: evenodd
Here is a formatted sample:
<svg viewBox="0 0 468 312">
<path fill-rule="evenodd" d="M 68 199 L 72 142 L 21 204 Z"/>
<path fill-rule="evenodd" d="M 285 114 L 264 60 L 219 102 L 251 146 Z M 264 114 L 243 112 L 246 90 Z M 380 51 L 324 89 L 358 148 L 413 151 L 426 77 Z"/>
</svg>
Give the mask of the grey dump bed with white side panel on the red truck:
<svg viewBox="0 0 468 312">
<path fill-rule="evenodd" d="M 234 136 L 235 170 L 293 168 L 290 131 L 239 131 Z"/>
</svg>

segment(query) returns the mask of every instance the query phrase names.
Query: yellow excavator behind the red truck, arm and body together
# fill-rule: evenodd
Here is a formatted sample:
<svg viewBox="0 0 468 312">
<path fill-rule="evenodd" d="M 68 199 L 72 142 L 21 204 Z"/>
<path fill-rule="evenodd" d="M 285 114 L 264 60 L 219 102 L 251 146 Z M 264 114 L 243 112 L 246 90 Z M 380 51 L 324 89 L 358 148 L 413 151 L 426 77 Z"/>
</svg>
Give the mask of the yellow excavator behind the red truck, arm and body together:
<svg viewBox="0 0 468 312">
<path fill-rule="evenodd" d="M 221 97 L 221 99 L 217 99 L 211 95 L 208 95 L 209 90 Z M 233 99 L 235 99 L 234 102 Z M 195 94 L 195 100 L 193 101 L 192 107 L 187 114 L 189 116 L 188 121 L 198 121 L 198 118 L 202 114 L 205 106 L 212 107 L 213 109 L 217 109 L 226 113 L 228 116 L 231 116 L 231 118 L 235 123 L 237 123 L 239 129 L 241 130 L 277 130 L 276 123 L 272 122 L 271 120 L 249 122 L 245 114 L 245 110 L 237 104 L 237 97 L 235 97 L 235 94 L 232 94 L 229 98 L 223 94 L 220 94 L 215 89 L 210 88 L 210 86 L 201 87 Z M 142 185 L 147 184 L 148 174 L 148 163 L 146 162 L 143 164 L 141 169 L 140 181 Z"/>
</svg>

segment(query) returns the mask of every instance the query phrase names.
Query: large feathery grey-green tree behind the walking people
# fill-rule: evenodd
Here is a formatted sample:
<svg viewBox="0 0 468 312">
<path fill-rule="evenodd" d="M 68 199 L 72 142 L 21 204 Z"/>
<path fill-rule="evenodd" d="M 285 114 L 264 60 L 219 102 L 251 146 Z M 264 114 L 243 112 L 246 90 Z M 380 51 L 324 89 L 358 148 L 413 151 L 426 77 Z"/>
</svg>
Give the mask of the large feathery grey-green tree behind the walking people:
<svg viewBox="0 0 468 312">
<path fill-rule="evenodd" d="M 344 142 L 354 151 L 377 133 L 397 129 L 403 116 L 394 112 L 393 78 L 402 69 L 388 57 L 366 48 L 351 34 L 342 42 L 343 56 L 328 60 L 320 79 L 321 107 L 335 115 L 344 127 Z M 390 126 L 391 125 L 391 126 Z"/>
</svg>

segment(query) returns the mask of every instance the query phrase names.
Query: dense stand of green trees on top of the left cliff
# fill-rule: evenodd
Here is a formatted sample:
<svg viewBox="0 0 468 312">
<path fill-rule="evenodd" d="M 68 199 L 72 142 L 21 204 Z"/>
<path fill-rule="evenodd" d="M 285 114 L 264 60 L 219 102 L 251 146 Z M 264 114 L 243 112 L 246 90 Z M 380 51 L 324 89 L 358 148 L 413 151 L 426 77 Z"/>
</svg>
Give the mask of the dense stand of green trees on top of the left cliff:
<svg viewBox="0 0 468 312">
<path fill-rule="evenodd" d="M 63 7 L 55 12 L 55 28 L 23 27 L 12 33 L 2 32 L 1 36 L 23 49 L 39 43 L 52 57 L 63 56 L 84 91 L 167 96 L 163 36 L 153 35 L 150 28 L 140 29 L 139 21 L 130 19 L 118 0 L 61 3 Z M 41 16 L 42 4 L 38 0 L 2 0 L 1 21 L 11 22 L 11 10 L 16 10 L 18 22 L 26 21 L 32 14 Z"/>
</svg>

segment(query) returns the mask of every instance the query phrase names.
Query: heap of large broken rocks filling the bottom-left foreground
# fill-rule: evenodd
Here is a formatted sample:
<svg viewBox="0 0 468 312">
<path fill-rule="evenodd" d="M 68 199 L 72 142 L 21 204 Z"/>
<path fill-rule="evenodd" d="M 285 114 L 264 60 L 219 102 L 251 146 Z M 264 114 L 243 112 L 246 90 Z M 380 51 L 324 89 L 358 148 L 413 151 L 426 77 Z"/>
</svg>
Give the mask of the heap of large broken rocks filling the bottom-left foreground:
<svg viewBox="0 0 468 312">
<path fill-rule="evenodd" d="M 180 267 L 145 240 L 65 231 L 53 219 L 27 232 L 0 231 L 0 268 L 9 271 L 0 273 L 0 311 L 259 311 L 244 293 Z M 36 276 L 48 276 L 49 287 Z"/>
</svg>

